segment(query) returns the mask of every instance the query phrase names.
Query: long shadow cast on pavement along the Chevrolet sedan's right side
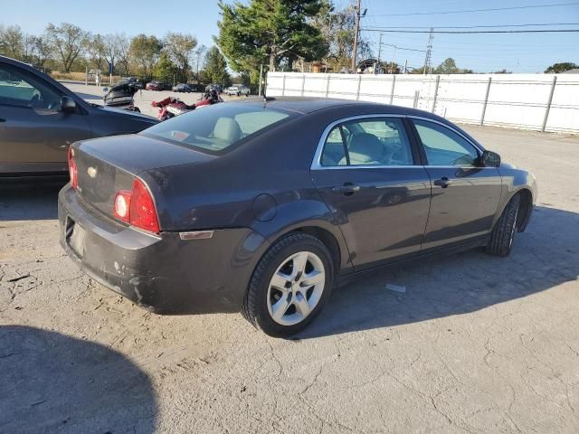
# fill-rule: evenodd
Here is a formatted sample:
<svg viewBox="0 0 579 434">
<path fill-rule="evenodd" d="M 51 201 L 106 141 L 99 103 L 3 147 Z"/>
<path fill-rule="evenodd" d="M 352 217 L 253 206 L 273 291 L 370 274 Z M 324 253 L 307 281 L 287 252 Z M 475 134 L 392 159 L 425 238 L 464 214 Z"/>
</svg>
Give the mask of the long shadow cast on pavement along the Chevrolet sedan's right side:
<svg viewBox="0 0 579 434">
<path fill-rule="evenodd" d="M 579 278 L 579 214 L 536 207 L 508 258 L 482 250 L 362 276 L 335 289 L 299 338 L 468 314 Z M 404 293 L 385 288 L 405 287 Z"/>
</svg>

